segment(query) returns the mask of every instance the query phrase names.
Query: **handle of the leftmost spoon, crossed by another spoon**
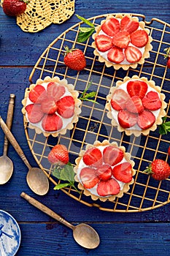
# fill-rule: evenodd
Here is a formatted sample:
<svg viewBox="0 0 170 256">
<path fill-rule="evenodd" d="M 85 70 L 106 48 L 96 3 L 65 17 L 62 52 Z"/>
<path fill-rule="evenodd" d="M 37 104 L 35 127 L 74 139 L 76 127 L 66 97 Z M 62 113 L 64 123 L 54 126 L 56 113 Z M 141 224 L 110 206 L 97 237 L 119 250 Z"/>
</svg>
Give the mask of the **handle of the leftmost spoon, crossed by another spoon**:
<svg viewBox="0 0 170 256">
<path fill-rule="evenodd" d="M 11 129 L 11 126 L 12 126 L 14 100 L 15 100 L 15 94 L 10 94 L 8 111 L 7 111 L 7 121 L 6 121 L 7 127 L 9 129 Z M 5 135 L 4 136 L 4 156 L 7 156 L 7 148 L 8 148 L 8 139 L 7 139 L 7 136 Z"/>
</svg>

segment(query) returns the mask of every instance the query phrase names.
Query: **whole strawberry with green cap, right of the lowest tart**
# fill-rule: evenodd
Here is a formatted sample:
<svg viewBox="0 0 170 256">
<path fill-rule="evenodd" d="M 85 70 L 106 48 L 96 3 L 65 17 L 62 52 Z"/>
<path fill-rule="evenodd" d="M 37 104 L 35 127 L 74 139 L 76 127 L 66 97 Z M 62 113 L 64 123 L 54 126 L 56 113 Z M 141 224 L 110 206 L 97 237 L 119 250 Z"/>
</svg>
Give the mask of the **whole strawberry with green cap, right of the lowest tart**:
<svg viewBox="0 0 170 256">
<path fill-rule="evenodd" d="M 150 174 L 157 181 L 163 181 L 170 176 L 170 166 L 162 159 L 155 159 L 144 173 Z"/>
</svg>

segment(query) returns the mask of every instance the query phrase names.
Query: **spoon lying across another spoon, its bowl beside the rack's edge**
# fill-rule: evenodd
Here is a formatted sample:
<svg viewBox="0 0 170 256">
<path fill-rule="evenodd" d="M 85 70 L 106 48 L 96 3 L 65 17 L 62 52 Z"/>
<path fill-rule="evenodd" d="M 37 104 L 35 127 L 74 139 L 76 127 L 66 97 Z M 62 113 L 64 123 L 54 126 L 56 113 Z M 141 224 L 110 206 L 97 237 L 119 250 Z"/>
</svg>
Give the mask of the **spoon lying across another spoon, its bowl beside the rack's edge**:
<svg viewBox="0 0 170 256">
<path fill-rule="evenodd" d="M 15 151 L 17 151 L 20 158 L 28 167 L 28 174 L 26 177 L 28 186 L 37 195 L 45 195 L 49 189 L 49 181 L 47 176 L 40 168 L 31 167 L 31 165 L 28 162 L 28 159 L 26 159 L 25 154 L 23 154 L 23 150 L 20 148 L 17 140 L 15 140 L 15 137 L 12 135 L 12 132 L 10 132 L 10 130 L 7 127 L 7 124 L 4 123 L 4 120 L 1 118 L 1 116 L 0 126 L 1 129 L 3 129 L 4 131 L 4 134 L 7 135 L 7 138 L 12 144 L 12 146 L 15 148 Z"/>
</svg>

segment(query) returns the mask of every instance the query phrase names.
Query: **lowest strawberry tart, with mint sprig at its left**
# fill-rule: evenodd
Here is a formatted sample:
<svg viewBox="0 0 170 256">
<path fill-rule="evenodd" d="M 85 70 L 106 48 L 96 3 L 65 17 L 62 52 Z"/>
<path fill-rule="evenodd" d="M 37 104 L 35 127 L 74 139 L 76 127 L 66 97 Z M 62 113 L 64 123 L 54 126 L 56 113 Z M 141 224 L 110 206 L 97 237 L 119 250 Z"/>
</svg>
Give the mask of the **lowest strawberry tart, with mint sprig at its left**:
<svg viewBox="0 0 170 256">
<path fill-rule="evenodd" d="M 115 200 L 128 192 L 129 185 L 134 183 L 134 161 L 123 146 L 98 140 L 88 144 L 85 151 L 80 151 L 74 167 L 75 181 L 79 189 L 93 200 Z"/>
</svg>

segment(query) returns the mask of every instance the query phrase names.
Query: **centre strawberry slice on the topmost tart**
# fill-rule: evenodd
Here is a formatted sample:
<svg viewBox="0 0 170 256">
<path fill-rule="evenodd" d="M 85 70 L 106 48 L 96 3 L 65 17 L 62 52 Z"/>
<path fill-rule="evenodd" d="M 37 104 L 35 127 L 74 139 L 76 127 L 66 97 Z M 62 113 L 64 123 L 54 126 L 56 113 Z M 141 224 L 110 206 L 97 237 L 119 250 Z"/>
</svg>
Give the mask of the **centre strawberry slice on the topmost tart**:
<svg viewBox="0 0 170 256">
<path fill-rule="evenodd" d="M 127 48 L 130 42 L 128 31 L 120 31 L 112 38 L 112 44 L 119 48 Z"/>
</svg>

